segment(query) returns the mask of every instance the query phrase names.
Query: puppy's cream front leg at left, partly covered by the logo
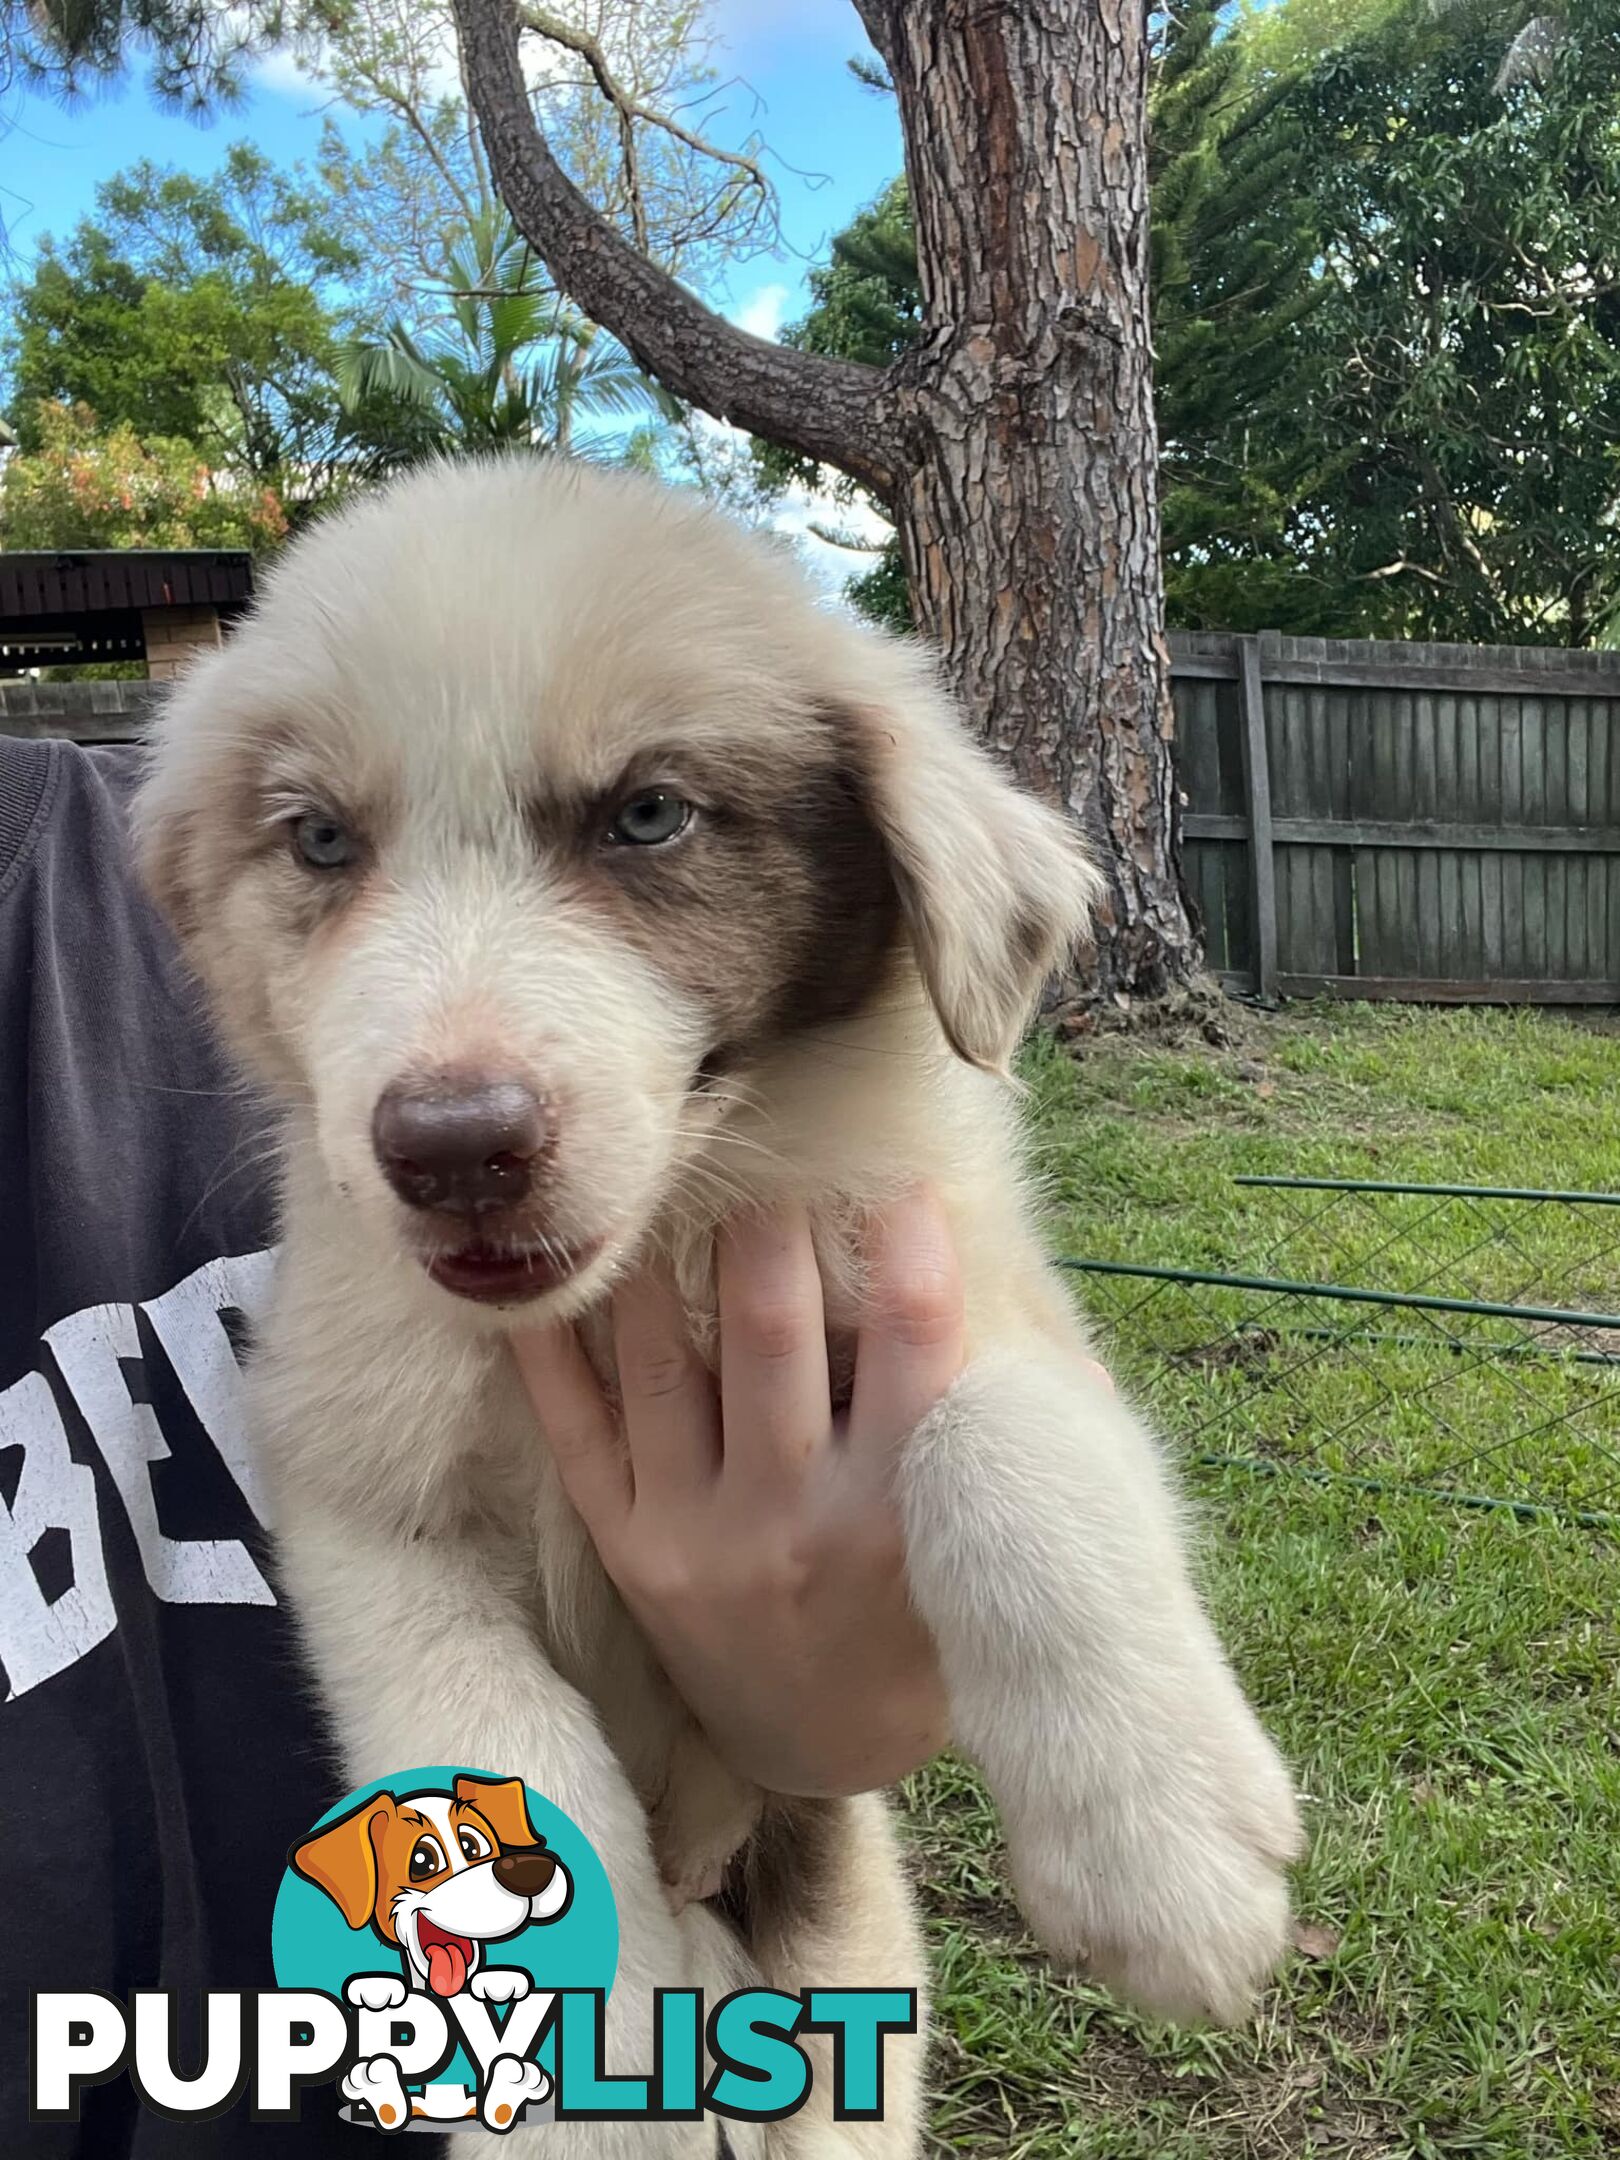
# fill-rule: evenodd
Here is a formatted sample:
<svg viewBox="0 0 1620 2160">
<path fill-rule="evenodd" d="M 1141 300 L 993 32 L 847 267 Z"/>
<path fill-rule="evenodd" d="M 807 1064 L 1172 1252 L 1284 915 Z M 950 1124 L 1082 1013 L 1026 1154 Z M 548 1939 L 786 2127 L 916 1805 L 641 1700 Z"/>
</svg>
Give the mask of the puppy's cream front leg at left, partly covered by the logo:
<svg viewBox="0 0 1620 2160">
<path fill-rule="evenodd" d="M 354 1784 L 464 1763 L 523 1778 L 585 1832 L 620 1929 L 605 2065 L 646 2074 L 654 1989 L 702 1985 L 706 1974 L 659 1886 L 642 1804 L 594 1711 L 553 1672 L 527 1622 L 521 1551 L 393 1540 L 330 1514 L 300 1521 L 296 1508 L 283 1512 L 279 1540 L 281 1577 Z M 544 2149 L 555 2160 L 713 2160 L 713 2125 L 557 2123 L 544 2130 Z"/>
</svg>

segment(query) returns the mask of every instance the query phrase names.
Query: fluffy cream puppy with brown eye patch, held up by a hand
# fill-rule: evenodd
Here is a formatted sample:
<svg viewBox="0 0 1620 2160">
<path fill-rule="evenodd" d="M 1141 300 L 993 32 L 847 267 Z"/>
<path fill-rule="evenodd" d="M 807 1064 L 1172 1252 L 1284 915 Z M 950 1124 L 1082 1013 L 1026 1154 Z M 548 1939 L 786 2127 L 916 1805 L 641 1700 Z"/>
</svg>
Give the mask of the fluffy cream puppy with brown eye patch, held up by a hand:
<svg viewBox="0 0 1620 2160">
<path fill-rule="evenodd" d="M 873 1210 L 929 1179 L 970 1363 L 903 1449 L 912 1596 L 1037 1935 L 1236 2017 L 1285 1935 L 1290 1780 L 1199 1605 L 1151 1436 L 1084 1365 L 1007 1065 L 1097 890 L 918 654 L 691 495 L 512 460 L 313 527 L 177 687 L 151 890 L 281 1102 L 251 1374 L 281 1568 L 352 1778 L 471 1763 L 568 1810 L 620 1907 L 609 2065 L 652 1992 L 920 1985 L 883 1808 L 706 1754 L 566 1506 L 503 1331 L 663 1255 L 713 1348 L 713 1233 L 799 1199 L 836 1341 Z M 769 1322 L 769 1315 L 760 1315 Z M 657 1845 L 657 1849 L 654 1849 Z M 728 1920 L 706 1888 L 730 1862 Z M 903 2156 L 827 2080 L 780 2156 Z M 691 2125 L 551 2151 L 708 2154 Z"/>
</svg>

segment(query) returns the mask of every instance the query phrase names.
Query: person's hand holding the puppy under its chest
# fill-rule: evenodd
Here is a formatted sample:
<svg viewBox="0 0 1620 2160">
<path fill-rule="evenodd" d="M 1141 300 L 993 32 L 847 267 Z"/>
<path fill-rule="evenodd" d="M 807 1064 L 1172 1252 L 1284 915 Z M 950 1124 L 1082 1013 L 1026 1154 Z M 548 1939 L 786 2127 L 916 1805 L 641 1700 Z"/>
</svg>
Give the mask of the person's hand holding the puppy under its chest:
<svg viewBox="0 0 1620 2160">
<path fill-rule="evenodd" d="M 719 1385 L 665 1277 L 616 1296 L 622 1436 L 572 1328 L 514 1335 L 518 1369 L 603 1566 L 721 1760 L 771 1793 L 873 1791 L 948 1739 L 892 1480 L 963 1361 L 950 1229 L 927 1192 L 877 1225 L 842 1415 L 804 1210 L 728 1225 L 717 1285 Z"/>
</svg>

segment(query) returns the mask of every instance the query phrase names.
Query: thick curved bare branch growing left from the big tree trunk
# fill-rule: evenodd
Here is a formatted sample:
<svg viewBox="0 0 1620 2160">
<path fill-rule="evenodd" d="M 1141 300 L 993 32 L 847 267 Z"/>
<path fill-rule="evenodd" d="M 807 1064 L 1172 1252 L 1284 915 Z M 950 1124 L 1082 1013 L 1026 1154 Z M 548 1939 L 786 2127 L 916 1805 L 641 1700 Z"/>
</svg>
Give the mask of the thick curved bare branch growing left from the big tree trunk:
<svg viewBox="0 0 1620 2160">
<path fill-rule="evenodd" d="M 454 6 L 495 181 L 568 298 L 676 397 L 888 497 L 899 458 L 886 376 L 750 337 L 648 261 L 551 156 L 518 65 L 512 0 Z"/>
</svg>

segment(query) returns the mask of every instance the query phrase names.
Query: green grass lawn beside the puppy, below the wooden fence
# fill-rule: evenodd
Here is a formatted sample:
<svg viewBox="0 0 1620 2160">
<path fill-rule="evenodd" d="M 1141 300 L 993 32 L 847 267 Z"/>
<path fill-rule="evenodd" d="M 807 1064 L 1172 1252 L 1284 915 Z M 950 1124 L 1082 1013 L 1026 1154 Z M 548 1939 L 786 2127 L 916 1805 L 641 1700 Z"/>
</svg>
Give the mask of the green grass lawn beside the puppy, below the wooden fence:
<svg viewBox="0 0 1620 2160">
<path fill-rule="evenodd" d="M 1620 1210 L 1614 1227 L 1609 1210 L 1536 1210 L 1503 1251 L 1493 1218 L 1469 1210 L 1419 1220 L 1398 1203 L 1389 1242 L 1389 1212 L 1311 1225 L 1298 1194 L 1231 1186 L 1283 1173 L 1620 1190 L 1620 1035 L 1393 1007 L 1244 1028 L 1240 1050 L 1030 1054 L 1061 1251 L 1620 1309 L 1620 1251 L 1603 1251 Z M 1283 1380 L 1296 1346 L 1164 1356 L 1207 1346 L 1212 1313 L 1253 1318 L 1253 1300 L 1184 1311 L 1177 1335 L 1173 1300 L 1121 1318 L 1130 1300 L 1106 1292 L 1091 1279 L 1080 1294 L 1117 1318 L 1110 1361 L 1156 1395 L 1184 1454 L 1248 1452 L 1233 1441 L 1246 1432 L 1279 1469 L 1190 1462 L 1188 1486 L 1225 1637 L 1305 1793 L 1307 1950 L 1236 2033 L 1121 2011 L 1043 1963 L 1004 1890 L 994 1812 L 968 1771 L 937 1765 L 909 1801 L 935 1957 L 940 2149 L 1620 2154 L 1618 1534 L 1410 1488 L 1445 1482 L 1458 1441 L 1484 1439 L 1493 1452 L 1464 1464 L 1473 1490 L 1534 1484 L 1620 1510 L 1620 1426 L 1605 1430 L 1603 1395 L 1620 1404 L 1620 1376 L 1536 1356 L 1506 1387 L 1495 1367 L 1514 1361 L 1482 1359 L 1471 1335 L 1464 1356 L 1331 1346 Z M 1285 1333 L 1298 1311 L 1279 1320 Z M 1333 1311 L 1335 1328 L 1348 1322 Z M 1223 1395 L 1225 1423 L 1201 1423 Z M 1361 1421 L 1324 1452 L 1356 1406 Z M 1503 1447 L 1536 1406 L 1549 1417 L 1534 1441 Z M 1372 1486 L 1294 1475 L 1307 1456 Z"/>
</svg>

